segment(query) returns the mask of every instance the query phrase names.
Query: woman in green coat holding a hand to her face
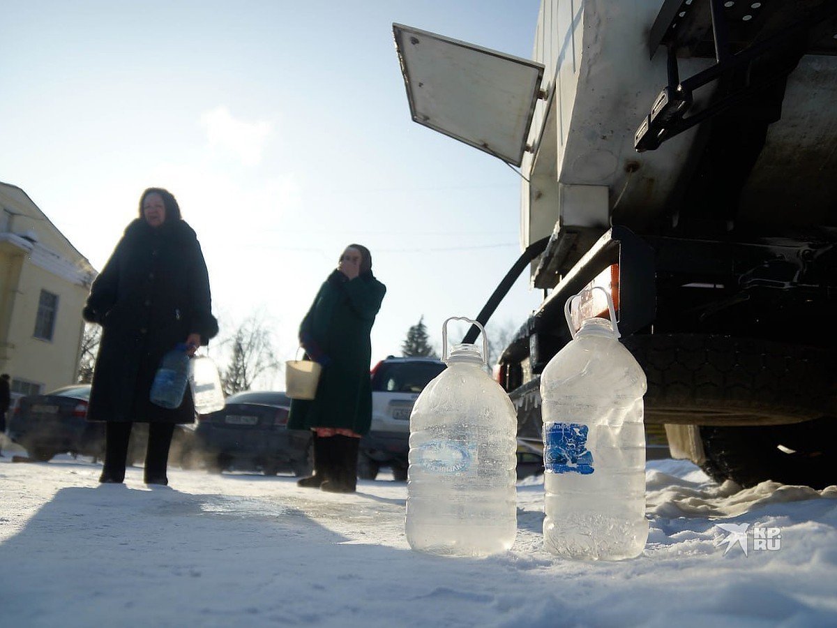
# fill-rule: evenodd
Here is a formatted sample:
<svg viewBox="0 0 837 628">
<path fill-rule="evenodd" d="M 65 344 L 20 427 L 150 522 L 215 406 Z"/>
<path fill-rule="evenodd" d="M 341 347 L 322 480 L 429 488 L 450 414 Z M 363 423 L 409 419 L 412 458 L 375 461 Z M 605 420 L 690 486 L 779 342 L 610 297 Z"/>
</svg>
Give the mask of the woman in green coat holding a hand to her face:
<svg viewBox="0 0 837 628">
<path fill-rule="evenodd" d="M 299 486 L 357 488 L 357 448 L 372 423 L 369 334 L 387 287 L 372 275 L 372 255 L 349 245 L 300 324 L 306 359 L 322 365 L 316 399 L 292 399 L 288 427 L 314 432 L 314 475 Z"/>
</svg>

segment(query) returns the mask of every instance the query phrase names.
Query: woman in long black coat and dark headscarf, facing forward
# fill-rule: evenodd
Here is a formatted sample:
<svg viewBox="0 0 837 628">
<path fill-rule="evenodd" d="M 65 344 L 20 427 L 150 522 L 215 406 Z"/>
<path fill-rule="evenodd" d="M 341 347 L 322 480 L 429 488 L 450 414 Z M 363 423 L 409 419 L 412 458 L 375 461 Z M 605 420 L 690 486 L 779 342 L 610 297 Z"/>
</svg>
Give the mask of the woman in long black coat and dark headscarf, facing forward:
<svg viewBox="0 0 837 628">
<path fill-rule="evenodd" d="M 191 356 L 218 333 L 203 252 L 172 193 L 142 193 L 140 217 L 128 224 L 93 282 L 82 315 L 102 327 L 87 410 L 88 420 L 106 422 L 99 481 L 125 480 L 131 426 L 147 423 L 144 480 L 167 485 L 174 426 L 193 423 L 195 410 L 188 389 L 179 408 L 152 404 L 154 373 L 178 343 L 186 343 Z"/>
</svg>

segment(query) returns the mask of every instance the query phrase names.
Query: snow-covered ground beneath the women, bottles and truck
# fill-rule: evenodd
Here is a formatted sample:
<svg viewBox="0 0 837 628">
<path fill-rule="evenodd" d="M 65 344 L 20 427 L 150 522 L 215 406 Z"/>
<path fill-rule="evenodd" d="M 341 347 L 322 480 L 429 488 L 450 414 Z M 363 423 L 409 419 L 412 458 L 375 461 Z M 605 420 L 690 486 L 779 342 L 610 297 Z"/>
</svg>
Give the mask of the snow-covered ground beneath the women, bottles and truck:
<svg viewBox="0 0 837 628">
<path fill-rule="evenodd" d="M 735 492 L 650 461 L 644 553 L 591 563 L 544 550 L 531 477 L 510 552 L 442 559 L 408 547 L 407 487 L 383 474 L 349 496 L 179 469 L 149 490 L 138 468 L 100 485 L 90 459 L 4 453 L 3 625 L 837 625 L 837 486 Z"/>
</svg>

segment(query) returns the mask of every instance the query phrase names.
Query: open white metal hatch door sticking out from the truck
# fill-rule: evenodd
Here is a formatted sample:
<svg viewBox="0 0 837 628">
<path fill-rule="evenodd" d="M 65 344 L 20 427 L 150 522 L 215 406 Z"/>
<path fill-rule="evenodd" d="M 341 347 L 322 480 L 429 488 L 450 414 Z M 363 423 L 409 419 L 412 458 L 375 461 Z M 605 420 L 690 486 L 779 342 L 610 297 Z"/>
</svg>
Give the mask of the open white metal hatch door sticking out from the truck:
<svg viewBox="0 0 837 628">
<path fill-rule="evenodd" d="M 413 121 L 520 167 L 543 65 L 393 23 Z"/>
</svg>

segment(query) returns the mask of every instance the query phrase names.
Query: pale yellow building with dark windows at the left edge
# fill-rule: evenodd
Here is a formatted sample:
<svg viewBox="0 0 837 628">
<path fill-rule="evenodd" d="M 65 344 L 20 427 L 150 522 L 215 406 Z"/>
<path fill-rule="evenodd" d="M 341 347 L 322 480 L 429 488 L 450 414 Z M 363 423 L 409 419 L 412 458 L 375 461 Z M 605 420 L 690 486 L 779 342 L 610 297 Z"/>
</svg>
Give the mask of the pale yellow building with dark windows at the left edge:
<svg viewBox="0 0 837 628">
<path fill-rule="evenodd" d="M 22 189 L 0 183 L 0 373 L 13 397 L 75 383 L 95 274 Z"/>
</svg>

